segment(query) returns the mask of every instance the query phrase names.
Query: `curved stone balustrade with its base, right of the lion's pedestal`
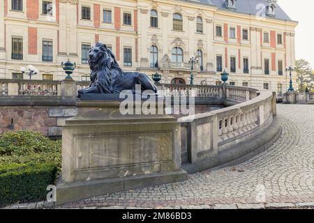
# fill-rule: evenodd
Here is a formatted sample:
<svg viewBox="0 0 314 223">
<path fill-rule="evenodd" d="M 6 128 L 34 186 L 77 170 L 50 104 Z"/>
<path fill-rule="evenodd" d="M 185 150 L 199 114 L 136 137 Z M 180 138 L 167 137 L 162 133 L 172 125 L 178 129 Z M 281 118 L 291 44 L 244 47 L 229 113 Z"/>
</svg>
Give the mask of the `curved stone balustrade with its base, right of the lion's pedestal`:
<svg viewBox="0 0 314 223">
<path fill-rule="evenodd" d="M 243 162 L 278 138 L 273 93 L 225 88 L 226 100 L 244 102 L 179 118 L 183 168 L 189 173 Z"/>
</svg>

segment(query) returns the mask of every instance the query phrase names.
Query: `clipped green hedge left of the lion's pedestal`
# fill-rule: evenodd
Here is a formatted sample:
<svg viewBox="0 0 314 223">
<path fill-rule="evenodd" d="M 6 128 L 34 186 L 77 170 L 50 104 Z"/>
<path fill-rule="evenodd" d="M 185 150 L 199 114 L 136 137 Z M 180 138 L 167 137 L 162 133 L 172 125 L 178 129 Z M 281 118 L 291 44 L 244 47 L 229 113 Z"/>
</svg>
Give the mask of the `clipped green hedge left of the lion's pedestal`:
<svg viewBox="0 0 314 223">
<path fill-rule="evenodd" d="M 0 205 L 45 199 L 61 169 L 61 141 L 38 132 L 0 136 Z"/>
</svg>

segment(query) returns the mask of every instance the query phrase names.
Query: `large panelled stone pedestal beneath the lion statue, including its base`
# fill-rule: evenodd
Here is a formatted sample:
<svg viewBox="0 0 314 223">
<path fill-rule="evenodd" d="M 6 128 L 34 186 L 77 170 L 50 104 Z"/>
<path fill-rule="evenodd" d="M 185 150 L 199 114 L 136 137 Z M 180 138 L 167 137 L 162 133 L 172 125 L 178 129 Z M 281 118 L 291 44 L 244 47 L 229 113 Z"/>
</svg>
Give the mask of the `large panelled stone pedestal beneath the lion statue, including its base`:
<svg viewBox="0 0 314 223">
<path fill-rule="evenodd" d="M 126 115 L 119 102 L 79 102 L 62 129 L 57 203 L 187 179 L 181 126 L 167 115 Z"/>
</svg>

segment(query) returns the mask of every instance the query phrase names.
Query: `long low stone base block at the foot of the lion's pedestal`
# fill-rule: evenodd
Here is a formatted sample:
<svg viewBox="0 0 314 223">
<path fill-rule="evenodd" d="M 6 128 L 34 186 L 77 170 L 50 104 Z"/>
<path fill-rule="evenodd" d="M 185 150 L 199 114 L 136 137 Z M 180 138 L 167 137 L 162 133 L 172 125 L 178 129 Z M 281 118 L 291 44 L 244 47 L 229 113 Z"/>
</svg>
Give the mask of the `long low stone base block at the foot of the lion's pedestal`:
<svg viewBox="0 0 314 223">
<path fill-rule="evenodd" d="M 176 183 L 188 179 L 184 170 L 167 173 L 130 176 L 103 180 L 80 181 L 75 183 L 59 183 L 57 185 L 57 205 L 70 203 L 89 197 L 100 196 L 113 192 L 134 190 L 143 187 Z"/>
</svg>

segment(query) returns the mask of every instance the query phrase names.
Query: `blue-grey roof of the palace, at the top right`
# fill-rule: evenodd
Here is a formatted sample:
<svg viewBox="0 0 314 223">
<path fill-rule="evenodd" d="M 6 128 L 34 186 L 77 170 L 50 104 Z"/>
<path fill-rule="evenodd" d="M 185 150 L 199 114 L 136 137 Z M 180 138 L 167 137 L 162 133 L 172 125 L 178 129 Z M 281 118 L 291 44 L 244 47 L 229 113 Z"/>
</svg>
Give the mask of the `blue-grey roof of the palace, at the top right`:
<svg viewBox="0 0 314 223">
<path fill-rule="evenodd" d="M 195 1 L 195 0 L 194 0 Z M 200 3 L 216 6 L 220 9 L 227 10 L 225 7 L 225 0 L 199 0 Z M 257 7 L 258 4 L 263 4 L 264 6 L 269 5 L 268 0 L 237 0 L 236 10 L 237 13 L 246 13 L 246 14 L 257 14 L 260 11 L 260 7 Z M 276 15 L 274 18 L 278 20 L 288 20 L 292 21 L 290 17 L 285 13 L 285 11 L 276 3 Z M 256 9 L 257 8 L 257 9 Z"/>
</svg>

